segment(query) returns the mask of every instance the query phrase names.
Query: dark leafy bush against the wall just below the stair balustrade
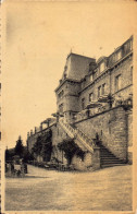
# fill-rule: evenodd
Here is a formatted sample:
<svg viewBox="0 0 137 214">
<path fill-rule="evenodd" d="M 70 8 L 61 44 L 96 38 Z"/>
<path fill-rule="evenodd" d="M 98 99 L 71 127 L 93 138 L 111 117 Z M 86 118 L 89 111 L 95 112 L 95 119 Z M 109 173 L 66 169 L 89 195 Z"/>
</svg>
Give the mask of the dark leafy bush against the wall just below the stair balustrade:
<svg viewBox="0 0 137 214">
<path fill-rule="evenodd" d="M 72 163 L 74 155 L 80 157 L 84 160 L 85 152 L 83 152 L 73 140 L 64 140 L 58 144 L 60 151 L 64 152 L 68 164 Z"/>
</svg>

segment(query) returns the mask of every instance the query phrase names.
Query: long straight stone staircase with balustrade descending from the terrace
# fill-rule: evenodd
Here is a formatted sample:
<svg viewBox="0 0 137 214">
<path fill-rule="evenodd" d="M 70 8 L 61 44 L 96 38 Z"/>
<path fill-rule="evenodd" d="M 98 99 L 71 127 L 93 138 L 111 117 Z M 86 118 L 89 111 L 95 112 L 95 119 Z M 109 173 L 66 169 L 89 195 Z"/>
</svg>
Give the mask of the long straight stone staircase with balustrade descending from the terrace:
<svg viewBox="0 0 137 214">
<path fill-rule="evenodd" d="M 74 139 L 74 142 L 84 152 L 90 152 L 91 154 L 94 154 L 95 148 L 98 147 L 98 150 L 100 150 L 101 168 L 120 166 L 125 164 L 125 162 L 119 159 L 114 154 L 112 154 L 112 152 L 110 152 L 104 145 L 102 145 L 101 141 L 96 144 L 95 141 L 89 139 L 82 130 L 76 127 L 72 127 L 71 124 L 65 122 L 63 118 L 59 120 L 59 124 L 70 138 Z"/>
</svg>

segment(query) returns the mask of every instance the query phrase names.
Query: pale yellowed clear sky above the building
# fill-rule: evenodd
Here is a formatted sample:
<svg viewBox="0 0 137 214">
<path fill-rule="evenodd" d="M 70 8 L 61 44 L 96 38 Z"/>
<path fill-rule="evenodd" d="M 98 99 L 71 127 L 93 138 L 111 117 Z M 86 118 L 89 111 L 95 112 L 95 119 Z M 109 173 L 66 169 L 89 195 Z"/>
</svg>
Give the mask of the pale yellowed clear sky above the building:
<svg viewBox="0 0 137 214">
<path fill-rule="evenodd" d="M 113 3 L 112 3 L 113 2 Z M 70 51 L 98 59 L 136 32 L 129 1 L 3 2 L 2 141 L 15 145 L 57 111 L 54 90 Z"/>
</svg>

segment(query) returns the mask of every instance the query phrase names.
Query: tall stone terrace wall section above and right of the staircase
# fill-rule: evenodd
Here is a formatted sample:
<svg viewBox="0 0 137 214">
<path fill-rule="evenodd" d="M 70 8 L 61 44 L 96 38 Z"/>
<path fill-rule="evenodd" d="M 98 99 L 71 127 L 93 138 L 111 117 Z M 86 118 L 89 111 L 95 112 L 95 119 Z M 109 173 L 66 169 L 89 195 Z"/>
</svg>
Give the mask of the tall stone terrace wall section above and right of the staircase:
<svg viewBox="0 0 137 214">
<path fill-rule="evenodd" d="M 75 126 L 91 139 L 98 133 L 109 151 L 120 159 L 126 160 L 127 117 L 122 106 L 76 122 Z"/>
</svg>

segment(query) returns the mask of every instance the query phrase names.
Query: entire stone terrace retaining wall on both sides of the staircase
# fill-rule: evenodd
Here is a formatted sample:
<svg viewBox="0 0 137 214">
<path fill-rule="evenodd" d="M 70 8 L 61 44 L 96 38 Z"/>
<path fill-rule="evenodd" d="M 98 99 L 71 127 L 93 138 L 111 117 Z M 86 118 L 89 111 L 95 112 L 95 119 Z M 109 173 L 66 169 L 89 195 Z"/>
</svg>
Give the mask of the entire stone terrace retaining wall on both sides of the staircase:
<svg viewBox="0 0 137 214">
<path fill-rule="evenodd" d="M 128 147 L 132 147 L 132 111 L 126 111 L 122 106 L 117 106 L 110 110 L 100 112 L 96 116 L 89 117 L 88 119 L 75 122 L 75 126 L 82 130 L 90 139 L 96 138 L 96 133 L 102 141 L 102 144 L 111 151 L 116 157 L 122 160 L 132 163 L 132 152 Z M 63 140 L 68 139 L 66 132 L 60 127 L 59 123 L 50 127 L 52 130 L 52 157 L 55 157 L 60 162 L 63 160 L 67 164 L 64 154 L 59 151 L 58 144 Z M 28 148 L 30 150 L 36 142 L 39 134 L 45 134 L 48 129 L 42 132 L 36 133 L 29 138 Z M 98 150 L 96 151 L 98 153 Z M 74 156 L 72 164 L 79 169 L 85 170 L 87 167 L 94 166 L 95 169 L 100 167 L 100 160 L 98 154 L 95 153 L 94 156 L 86 154 L 84 160 Z M 90 156 L 90 157 L 89 157 Z"/>
</svg>

